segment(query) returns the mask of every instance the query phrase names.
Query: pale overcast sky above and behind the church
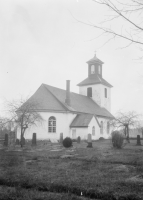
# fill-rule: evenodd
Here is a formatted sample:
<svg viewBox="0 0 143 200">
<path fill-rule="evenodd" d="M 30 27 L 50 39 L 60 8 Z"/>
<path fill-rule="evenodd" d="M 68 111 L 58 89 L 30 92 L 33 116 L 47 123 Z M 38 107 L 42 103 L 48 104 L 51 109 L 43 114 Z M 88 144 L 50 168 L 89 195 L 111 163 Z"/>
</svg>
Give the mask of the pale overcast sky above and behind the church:
<svg viewBox="0 0 143 200">
<path fill-rule="evenodd" d="M 0 0 L 0 111 L 30 97 L 42 83 L 78 93 L 96 51 L 103 78 L 113 85 L 111 112 L 143 113 L 143 68 L 136 46 L 99 36 L 94 27 L 109 11 L 92 0 Z M 120 22 L 119 23 L 123 23 Z M 118 29 L 118 24 L 114 24 Z"/>
</svg>

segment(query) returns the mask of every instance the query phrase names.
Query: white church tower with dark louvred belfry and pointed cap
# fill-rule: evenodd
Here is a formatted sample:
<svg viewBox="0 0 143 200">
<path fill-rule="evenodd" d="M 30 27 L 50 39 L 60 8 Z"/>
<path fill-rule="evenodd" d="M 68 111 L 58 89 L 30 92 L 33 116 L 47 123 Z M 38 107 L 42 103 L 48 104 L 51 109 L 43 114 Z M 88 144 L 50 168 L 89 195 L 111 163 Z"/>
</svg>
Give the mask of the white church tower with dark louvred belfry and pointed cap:
<svg viewBox="0 0 143 200">
<path fill-rule="evenodd" d="M 88 78 L 78 84 L 79 94 L 92 98 L 99 106 L 111 111 L 111 87 L 102 77 L 101 60 L 96 57 L 87 61 L 88 64 Z"/>
</svg>

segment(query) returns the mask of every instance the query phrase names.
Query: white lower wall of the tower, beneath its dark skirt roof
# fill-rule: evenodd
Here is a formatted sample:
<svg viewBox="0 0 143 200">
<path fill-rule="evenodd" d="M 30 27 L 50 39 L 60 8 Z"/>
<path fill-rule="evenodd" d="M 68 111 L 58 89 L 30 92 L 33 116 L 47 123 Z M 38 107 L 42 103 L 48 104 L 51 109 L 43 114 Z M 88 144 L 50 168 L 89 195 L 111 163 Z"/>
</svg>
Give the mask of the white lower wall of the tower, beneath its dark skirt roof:
<svg viewBox="0 0 143 200">
<path fill-rule="evenodd" d="M 111 111 L 111 89 L 102 84 L 87 85 L 79 87 L 79 94 L 87 96 L 87 88 L 92 87 L 92 99 L 101 107 Z M 105 88 L 107 88 L 107 98 L 105 98 Z"/>
</svg>

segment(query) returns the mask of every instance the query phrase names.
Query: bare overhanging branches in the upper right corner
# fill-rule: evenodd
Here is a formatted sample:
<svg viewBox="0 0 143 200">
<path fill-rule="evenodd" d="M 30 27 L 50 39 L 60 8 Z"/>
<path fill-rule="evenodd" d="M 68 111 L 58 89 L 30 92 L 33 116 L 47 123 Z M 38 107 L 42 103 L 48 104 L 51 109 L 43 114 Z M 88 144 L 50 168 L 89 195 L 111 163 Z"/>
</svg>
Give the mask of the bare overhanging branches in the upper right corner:
<svg viewBox="0 0 143 200">
<path fill-rule="evenodd" d="M 94 3 L 108 8 L 109 15 L 98 24 L 83 22 L 101 31 L 99 36 L 108 36 L 107 42 L 115 38 L 127 41 L 126 47 L 131 44 L 143 45 L 143 2 L 142 0 L 92 0 Z"/>
</svg>

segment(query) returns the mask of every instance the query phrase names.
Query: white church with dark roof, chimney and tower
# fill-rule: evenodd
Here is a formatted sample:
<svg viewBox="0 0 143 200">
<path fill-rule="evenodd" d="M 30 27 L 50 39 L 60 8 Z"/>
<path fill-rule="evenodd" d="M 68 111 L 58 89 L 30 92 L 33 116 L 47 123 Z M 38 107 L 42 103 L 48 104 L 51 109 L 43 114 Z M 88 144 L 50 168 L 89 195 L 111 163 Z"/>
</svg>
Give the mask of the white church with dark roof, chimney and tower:
<svg viewBox="0 0 143 200">
<path fill-rule="evenodd" d="M 25 138 L 59 140 L 63 137 L 87 139 L 90 133 L 93 140 L 100 137 L 109 138 L 111 128 L 109 121 L 114 118 L 111 111 L 111 88 L 102 77 L 103 62 L 96 55 L 87 61 L 88 77 L 81 81 L 79 94 L 70 91 L 70 81 L 66 82 L 66 90 L 42 84 L 28 99 L 36 101 L 37 111 L 43 118 L 42 124 L 29 127 Z M 27 101 L 27 102 L 28 102 Z M 20 130 L 17 130 L 20 138 Z"/>
</svg>

